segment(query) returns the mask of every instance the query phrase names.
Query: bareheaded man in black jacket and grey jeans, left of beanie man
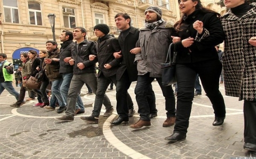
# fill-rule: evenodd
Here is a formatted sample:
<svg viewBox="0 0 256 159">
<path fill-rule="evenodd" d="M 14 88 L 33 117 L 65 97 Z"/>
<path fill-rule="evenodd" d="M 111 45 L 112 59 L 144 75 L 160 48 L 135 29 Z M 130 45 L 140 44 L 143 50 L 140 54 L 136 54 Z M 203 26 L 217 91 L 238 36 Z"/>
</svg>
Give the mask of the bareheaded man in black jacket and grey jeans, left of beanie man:
<svg viewBox="0 0 256 159">
<path fill-rule="evenodd" d="M 77 41 L 71 46 L 72 58 L 69 60 L 69 63 L 70 65 L 73 65 L 74 75 L 68 92 L 67 111 L 64 116 L 55 118 L 60 121 L 74 121 L 78 94 L 85 83 L 92 88 L 93 93 L 96 93 L 97 91 L 97 74 L 95 70 L 96 60 L 89 60 L 89 55 L 97 54 L 95 43 L 85 39 L 86 30 L 82 27 L 74 28 L 73 36 Z M 109 109 L 113 109 L 109 97 L 106 94 L 104 94 L 103 104 L 106 107 L 106 113 Z M 110 116 L 111 114 L 108 115 Z"/>
</svg>

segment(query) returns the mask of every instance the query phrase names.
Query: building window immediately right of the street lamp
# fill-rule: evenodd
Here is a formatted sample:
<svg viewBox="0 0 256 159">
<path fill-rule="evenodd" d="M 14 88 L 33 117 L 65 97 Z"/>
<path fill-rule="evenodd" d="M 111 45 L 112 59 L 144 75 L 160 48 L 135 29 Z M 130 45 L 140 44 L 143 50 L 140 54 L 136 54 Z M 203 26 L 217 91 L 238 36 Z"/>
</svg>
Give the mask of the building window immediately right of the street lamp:
<svg viewBox="0 0 256 159">
<path fill-rule="evenodd" d="M 65 28 L 76 28 L 75 9 L 62 7 Z"/>
</svg>

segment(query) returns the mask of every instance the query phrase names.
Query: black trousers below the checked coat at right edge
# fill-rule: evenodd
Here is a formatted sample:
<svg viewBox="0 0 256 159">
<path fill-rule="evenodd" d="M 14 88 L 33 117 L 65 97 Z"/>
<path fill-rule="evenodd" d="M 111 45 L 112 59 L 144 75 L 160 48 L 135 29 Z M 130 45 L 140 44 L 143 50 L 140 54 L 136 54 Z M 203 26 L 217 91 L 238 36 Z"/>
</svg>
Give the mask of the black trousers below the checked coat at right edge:
<svg viewBox="0 0 256 159">
<path fill-rule="evenodd" d="M 256 144 L 256 101 L 244 101 L 244 142 Z"/>
</svg>

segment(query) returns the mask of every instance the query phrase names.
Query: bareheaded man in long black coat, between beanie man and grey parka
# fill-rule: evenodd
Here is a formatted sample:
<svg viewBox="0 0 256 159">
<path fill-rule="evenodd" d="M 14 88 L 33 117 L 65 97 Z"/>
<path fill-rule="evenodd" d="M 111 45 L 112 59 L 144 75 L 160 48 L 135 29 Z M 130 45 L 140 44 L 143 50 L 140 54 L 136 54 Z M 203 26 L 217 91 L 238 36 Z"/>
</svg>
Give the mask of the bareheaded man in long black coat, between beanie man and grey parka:
<svg viewBox="0 0 256 159">
<path fill-rule="evenodd" d="M 140 31 L 131 26 L 131 17 L 128 14 L 116 14 L 115 22 L 117 29 L 121 30 L 121 33 L 118 36 L 118 43 L 121 47 L 121 51 L 115 52 L 114 56 L 115 58 L 123 58 L 120 67 L 116 72 L 116 100 L 122 102 L 116 104 L 116 111 L 119 117 L 111 123 L 120 124 L 122 122 L 128 122 L 129 116 L 133 116 L 135 113 L 132 101 L 130 101 L 132 104 L 127 105 L 126 94 L 132 82 L 136 81 L 138 77 L 137 66 L 133 63 L 135 54 L 131 51 L 136 47 Z M 147 97 L 149 100 L 152 100 L 149 101 L 149 103 L 152 103 L 152 107 L 154 107 L 153 111 L 156 113 L 155 94 L 152 89 L 148 92 Z"/>
</svg>

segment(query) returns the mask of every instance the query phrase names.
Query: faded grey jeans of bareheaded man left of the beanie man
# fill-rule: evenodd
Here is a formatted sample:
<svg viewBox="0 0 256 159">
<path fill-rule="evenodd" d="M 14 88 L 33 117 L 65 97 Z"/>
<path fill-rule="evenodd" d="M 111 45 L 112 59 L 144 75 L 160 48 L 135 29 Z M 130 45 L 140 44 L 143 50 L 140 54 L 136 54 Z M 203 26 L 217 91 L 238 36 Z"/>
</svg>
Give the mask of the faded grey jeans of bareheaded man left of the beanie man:
<svg viewBox="0 0 256 159">
<path fill-rule="evenodd" d="M 81 74 L 74 74 L 71 83 L 70 89 L 68 92 L 68 108 L 65 112 L 65 116 L 74 117 L 76 111 L 76 101 L 78 98 L 78 94 L 81 91 L 84 84 L 87 83 L 93 90 L 95 94 L 97 92 L 97 74 L 96 73 L 81 73 Z M 104 94 L 103 104 L 106 109 L 111 109 L 113 106 L 109 100 L 109 97 Z"/>
</svg>

